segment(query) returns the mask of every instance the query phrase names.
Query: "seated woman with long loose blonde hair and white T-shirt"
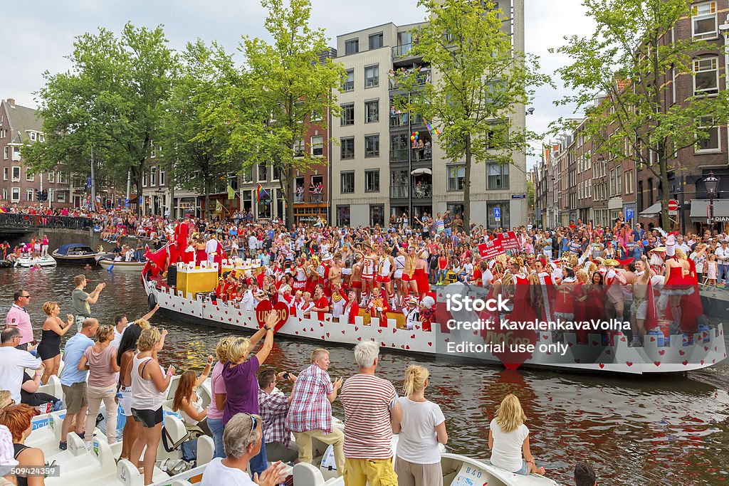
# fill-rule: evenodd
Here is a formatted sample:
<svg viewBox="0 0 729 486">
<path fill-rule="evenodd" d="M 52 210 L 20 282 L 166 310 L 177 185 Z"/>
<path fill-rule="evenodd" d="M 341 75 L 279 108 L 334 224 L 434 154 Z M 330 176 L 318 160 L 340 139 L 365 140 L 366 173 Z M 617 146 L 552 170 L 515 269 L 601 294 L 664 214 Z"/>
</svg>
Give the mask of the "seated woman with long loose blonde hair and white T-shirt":
<svg viewBox="0 0 729 486">
<path fill-rule="evenodd" d="M 545 469 L 534 463 L 534 456 L 529 450 L 529 428 L 524 425 L 525 420 L 519 399 L 512 393 L 504 396 L 488 428 L 491 464 L 525 476 L 545 474 Z"/>
</svg>

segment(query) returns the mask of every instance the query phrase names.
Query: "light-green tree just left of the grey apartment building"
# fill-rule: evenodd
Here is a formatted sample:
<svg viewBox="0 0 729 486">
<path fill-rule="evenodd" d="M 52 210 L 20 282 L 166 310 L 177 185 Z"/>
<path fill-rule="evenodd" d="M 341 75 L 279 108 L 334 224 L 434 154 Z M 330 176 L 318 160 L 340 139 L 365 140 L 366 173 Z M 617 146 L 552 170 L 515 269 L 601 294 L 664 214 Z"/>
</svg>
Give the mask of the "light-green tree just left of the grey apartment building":
<svg viewBox="0 0 729 486">
<path fill-rule="evenodd" d="M 262 0 L 268 9 L 265 26 L 273 37 L 243 40 L 246 83 L 228 91 L 227 103 L 208 111 L 211 122 L 229 133 L 230 152 L 244 158 L 249 167 L 270 162 L 281 181 L 286 200 L 286 224 L 294 222 L 297 171 L 323 162 L 305 149 L 296 153 L 313 119 L 327 130 L 326 114 L 338 115 L 332 90 L 343 82 L 344 70 L 331 58 L 324 30 L 309 27 L 310 0 Z M 329 141 L 324 141 L 328 143 Z"/>
</svg>

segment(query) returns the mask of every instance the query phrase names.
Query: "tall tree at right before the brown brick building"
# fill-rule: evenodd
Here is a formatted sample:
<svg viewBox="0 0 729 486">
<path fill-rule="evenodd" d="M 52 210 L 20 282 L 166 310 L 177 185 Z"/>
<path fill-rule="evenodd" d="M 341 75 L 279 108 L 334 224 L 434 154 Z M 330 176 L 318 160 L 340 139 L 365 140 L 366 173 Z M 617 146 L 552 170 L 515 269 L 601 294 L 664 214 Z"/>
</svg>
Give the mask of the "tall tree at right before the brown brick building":
<svg viewBox="0 0 729 486">
<path fill-rule="evenodd" d="M 677 22 L 691 19 L 690 0 L 585 0 L 583 5 L 596 30 L 587 37 L 565 37 L 566 45 L 551 50 L 572 60 L 558 73 L 576 93 L 556 104 L 585 110 L 584 133 L 593 137 L 593 153 L 633 160 L 660 180 L 660 219 L 668 228 L 671 160 L 707 138 L 709 128 L 726 123 L 729 92 L 717 89 L 716 96 L 694 95 L 670 106 L 666 100 L 674 74 L 692 76 L 695 56 L 716 47 L 674 37 Z M 573 125 L 559 119 L 554 126 Z"/>
</svg>

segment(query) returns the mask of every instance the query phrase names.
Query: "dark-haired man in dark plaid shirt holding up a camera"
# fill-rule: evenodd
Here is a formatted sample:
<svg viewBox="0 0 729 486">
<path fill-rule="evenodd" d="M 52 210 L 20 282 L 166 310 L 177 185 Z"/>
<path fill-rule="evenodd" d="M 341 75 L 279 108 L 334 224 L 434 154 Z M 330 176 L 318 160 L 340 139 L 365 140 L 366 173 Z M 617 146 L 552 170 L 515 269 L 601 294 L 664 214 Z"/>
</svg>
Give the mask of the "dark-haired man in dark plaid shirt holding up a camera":
<svg viewBox="0 0 729 486">
<path fill-rule="evenodd" d="M 284 372 L 276 375 L 273 369 L 262 369 L 258 372 L 258 408 L 264 424 L 263 442 L 266 444 L 267 457 L 270 455 L 272 462 L 281 460 L 290 463 L 298 457 L 299 452 L 295 447 L 292 449 L 291 432 L 285 424 L 291 396 L 273 393 L 279 380 L 294 383 L 296 376 Z"/>
</svg>

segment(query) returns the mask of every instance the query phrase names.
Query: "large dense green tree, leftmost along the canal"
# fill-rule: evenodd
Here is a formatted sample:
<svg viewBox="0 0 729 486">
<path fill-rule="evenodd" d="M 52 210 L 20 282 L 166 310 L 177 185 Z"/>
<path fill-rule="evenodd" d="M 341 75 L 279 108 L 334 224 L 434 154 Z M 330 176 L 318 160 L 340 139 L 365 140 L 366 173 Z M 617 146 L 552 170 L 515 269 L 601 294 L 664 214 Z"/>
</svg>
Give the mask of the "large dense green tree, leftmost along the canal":
<svg viewBox="0 0 729 486">
<path fill-rule="evenodd" d="M 141 193 L 176 71 L 162 27 L 127 23 L 118 39 L 99 28 L 76 38 L 69 60 L 70 71 L 43 75 L 46 84 L 36 94 L 46 138 L 26 149 L 28 164 L 47 170 L 65 162 L 85 174 L 93 147 L 109 176 L 124 181 L 130 170 Z"/>
</svg>

